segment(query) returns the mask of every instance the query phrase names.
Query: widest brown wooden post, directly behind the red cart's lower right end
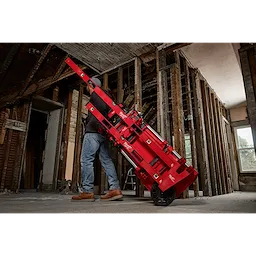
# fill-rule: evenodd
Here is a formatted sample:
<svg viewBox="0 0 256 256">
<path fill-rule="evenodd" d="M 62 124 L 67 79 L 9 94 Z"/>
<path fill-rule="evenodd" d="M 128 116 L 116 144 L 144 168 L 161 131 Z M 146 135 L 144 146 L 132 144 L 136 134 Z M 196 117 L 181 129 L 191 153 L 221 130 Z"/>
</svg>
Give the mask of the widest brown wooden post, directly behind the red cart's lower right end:
<svg viewBox="0 0 256 256">
<path fill-rule="evenodd" d="M 173 148 L 181 157 L 185 157 L 185 127 L 182 102 L 182 85 L 180 73 L 180 55 L 174 52 L 175 64 L 170 69 L 171 95 L 172 95 L 172 126 L 174 143 Z M 181 194 L 181 198 L 188 198 L 188 188 Z"/>
</svg>

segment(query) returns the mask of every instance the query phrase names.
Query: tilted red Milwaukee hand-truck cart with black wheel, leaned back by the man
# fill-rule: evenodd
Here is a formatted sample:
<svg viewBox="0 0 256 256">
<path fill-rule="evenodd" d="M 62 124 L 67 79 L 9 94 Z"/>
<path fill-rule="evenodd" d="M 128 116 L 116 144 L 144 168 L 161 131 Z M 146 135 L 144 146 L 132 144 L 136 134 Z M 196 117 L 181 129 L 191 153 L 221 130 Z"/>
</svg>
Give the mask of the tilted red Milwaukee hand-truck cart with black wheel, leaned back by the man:
<svg viewBox="0 0 256 256">
<path fill-rule="evenodd" d="M 198 172 L 143 121 L 138 111 L 125 110 L 122 104 L 116 104 L 100 87 L 95 86 L 70 58 L 66 59 L 66 63 L 110 107 L 108 116 L 104 117 L 90 102 L 86 104 L 88 111 L 101 122 L 108 139 L 133 166 L 136 176 L 150 191 L 154 204 L 171 204 L 194 182 Z"/>
</svg>

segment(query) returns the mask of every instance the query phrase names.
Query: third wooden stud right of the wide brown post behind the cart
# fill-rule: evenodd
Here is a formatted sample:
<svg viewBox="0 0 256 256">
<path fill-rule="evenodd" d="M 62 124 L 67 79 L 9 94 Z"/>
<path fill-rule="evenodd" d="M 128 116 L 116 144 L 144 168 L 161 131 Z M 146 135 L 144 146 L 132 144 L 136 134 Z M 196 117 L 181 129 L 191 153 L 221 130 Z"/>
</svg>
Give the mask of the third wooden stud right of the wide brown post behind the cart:
<svg viewBox="0 0 256 256">
<path fill-rule="evenodd" d="M 211 181 L 211 188 L 212 188 L 212 195 L 218 195 L 217 189 L 217 178 L 216 178 L 216 169 L 215 169 L 215 158 L 214 158 L 214 151 L 213 151 L 213 135 L 211 129 L 211 115 L 210 115 L 210 107 L 209 107 L 209 94 L 208 88 L 205 81 L 201 81 L 201 91 L 202 91 L 202 101 L 203 101 L 203 109 L 204 109 L 204 121 L 205 121 L 205 136 L 206 136 L 206 145 L 208 151 L 208 161 L 209 161 L 209 168 L 210 168 L 210 180 Z"/>
</svg>

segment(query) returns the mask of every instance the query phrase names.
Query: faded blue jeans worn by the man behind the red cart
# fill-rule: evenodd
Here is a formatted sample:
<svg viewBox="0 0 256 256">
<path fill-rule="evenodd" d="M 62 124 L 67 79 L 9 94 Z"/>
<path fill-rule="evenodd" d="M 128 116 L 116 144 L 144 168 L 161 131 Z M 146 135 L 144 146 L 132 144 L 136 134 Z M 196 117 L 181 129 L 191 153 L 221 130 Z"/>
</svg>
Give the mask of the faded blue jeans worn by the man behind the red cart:
<svg viewBox="0 0 256 256">
<path fill-rule="evenodd" d="M 109 155 L 107 139 L 99 133 L 85 133 L 81 152 L 83 191 L 93 192 L 94 160 L 97 151 L 99 151 L 99 159 L 108 178 L 109 189 L 120 189 L 116 168 Z"/>
</svg>

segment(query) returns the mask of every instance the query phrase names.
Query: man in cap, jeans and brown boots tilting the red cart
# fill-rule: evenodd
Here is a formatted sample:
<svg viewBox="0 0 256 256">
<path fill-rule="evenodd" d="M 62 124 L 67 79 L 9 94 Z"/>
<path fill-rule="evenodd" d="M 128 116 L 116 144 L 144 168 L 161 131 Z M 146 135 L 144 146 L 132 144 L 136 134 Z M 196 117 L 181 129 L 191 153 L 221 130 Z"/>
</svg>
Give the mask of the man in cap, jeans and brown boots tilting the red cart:
<svg viewBox="0 0 256 256">
<path fill-rule="evenodd" d="M 101 81 L 98 78 L 91 78 L 96 86 L 101 87 Z M 107 104 L 93 91 L 93 88 L 87 85 L 90 94 L 90 102 L 106 116 L 109 111 Z M 83 138 L 81 152 L 81 172 L 82 172 L 82 190 L 78 196 L 73 196 L 73 200 L 94 201 L 94 160 L 96 153 L 99 152 L 101 165 L 107 175 L 109 191 L 102 195 L 101 200 L 117 200 L 123 197 L 117 172 L 108 150 L 108 141 L 103 134 L 102 125 L 97 118 L 88 111 L 86 118 L 85 135 Z"/>
</svg>

